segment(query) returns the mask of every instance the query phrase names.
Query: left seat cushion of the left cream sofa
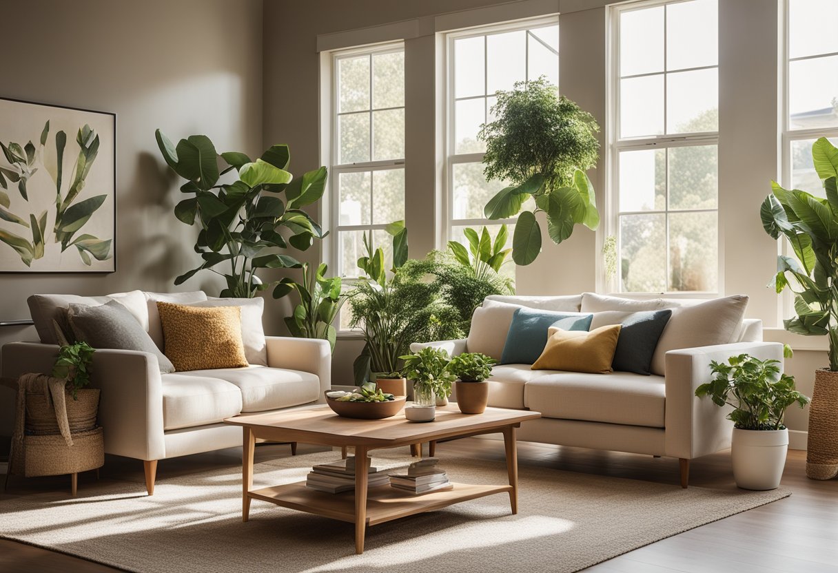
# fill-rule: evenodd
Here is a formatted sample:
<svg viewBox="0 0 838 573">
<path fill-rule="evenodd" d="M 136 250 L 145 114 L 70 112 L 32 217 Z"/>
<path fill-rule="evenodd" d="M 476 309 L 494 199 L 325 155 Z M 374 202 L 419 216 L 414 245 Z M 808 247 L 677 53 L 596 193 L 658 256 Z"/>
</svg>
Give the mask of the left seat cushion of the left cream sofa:
<svg viewBox="0 0 838 573">
<path fill-rule="evenodd" d="M 215 424 L 241 414 L 241 390 L 230 382 L 186 374 L 163 374 L 160 378 L 164 430 Z"/>
</svg>

